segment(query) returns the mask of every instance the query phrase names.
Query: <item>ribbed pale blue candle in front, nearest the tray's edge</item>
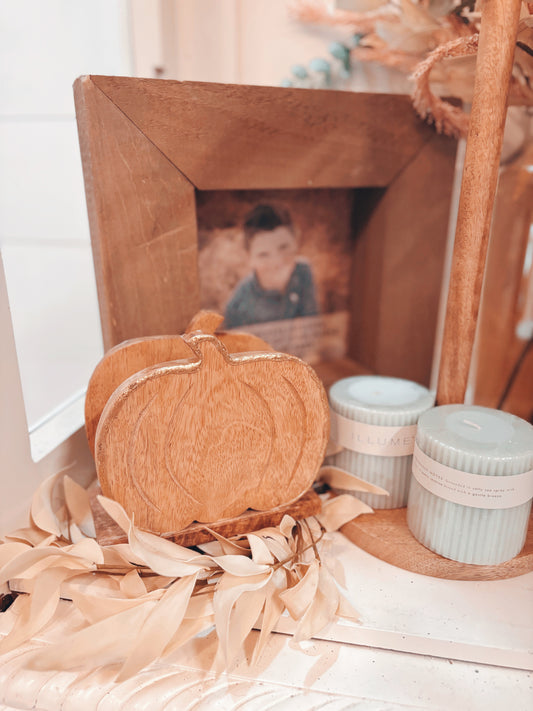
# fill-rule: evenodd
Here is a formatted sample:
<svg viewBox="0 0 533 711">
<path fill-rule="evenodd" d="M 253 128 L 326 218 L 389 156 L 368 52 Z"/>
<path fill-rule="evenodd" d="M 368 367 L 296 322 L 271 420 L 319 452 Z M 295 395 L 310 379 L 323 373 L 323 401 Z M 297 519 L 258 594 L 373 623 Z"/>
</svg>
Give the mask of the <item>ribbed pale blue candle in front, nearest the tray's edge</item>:
<svg viewBox="0 0 533 711">
<path fill-rule="evenodd" d="M 533 427 L 507 412 L 443 405 L 419 420 L 407 523 L 445 558 L 496 565 L 522 549 L 533 496 Z"/>
</svg>

